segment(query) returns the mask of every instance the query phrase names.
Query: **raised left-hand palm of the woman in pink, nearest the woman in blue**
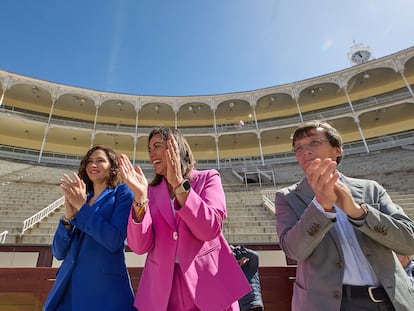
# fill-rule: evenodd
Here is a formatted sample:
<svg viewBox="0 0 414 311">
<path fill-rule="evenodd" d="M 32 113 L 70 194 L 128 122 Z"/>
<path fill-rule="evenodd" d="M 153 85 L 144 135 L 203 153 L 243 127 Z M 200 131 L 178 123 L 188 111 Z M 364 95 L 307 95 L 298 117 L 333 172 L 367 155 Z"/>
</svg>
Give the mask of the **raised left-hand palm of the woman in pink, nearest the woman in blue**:
<svg viewBox="0 0 414 311">
<path fill-rule="evenodd" d="M 134 169 L 126 154 L 119 156 L 119 172 L 123 181 L 134 193 L 135 201 L 144 202 L 148 198 L 148 181 L 142 169 L 137 165 Z"/>
</svg>

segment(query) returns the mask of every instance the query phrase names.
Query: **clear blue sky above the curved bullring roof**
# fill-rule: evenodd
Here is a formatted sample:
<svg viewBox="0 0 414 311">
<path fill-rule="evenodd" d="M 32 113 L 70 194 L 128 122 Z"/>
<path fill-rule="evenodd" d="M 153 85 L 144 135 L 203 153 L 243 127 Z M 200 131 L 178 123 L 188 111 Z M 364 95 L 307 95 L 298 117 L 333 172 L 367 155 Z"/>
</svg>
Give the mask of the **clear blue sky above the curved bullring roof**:
<svg viewBox="0 0 414 311">
<path fill-rule="evenodd" d="M 212 95 L 414 45 L 414 0 L 2 0 L 0 69 L 137 95 Z"/>
</svg>

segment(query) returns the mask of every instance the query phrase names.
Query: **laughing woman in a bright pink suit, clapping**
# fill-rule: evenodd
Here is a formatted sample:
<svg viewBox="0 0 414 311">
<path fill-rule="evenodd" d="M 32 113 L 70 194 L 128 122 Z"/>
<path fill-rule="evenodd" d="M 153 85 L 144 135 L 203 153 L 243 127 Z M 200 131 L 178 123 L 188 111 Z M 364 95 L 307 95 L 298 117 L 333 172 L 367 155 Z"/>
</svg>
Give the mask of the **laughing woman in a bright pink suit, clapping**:
<svg viewBox="0 0 414 311">
<path fill-rule="evenodd" d="M 251 291 L 223 233 L 226 200 L 216 170 L 198 171 L 178 130 L 154 129 L 148 152 L 155 171 L 148 185 L 126 155 L 120 172 L 134 193 L 127 242 L 147 253 L 135 298 L 140 311 L 239 310 Z"/>
</svg>

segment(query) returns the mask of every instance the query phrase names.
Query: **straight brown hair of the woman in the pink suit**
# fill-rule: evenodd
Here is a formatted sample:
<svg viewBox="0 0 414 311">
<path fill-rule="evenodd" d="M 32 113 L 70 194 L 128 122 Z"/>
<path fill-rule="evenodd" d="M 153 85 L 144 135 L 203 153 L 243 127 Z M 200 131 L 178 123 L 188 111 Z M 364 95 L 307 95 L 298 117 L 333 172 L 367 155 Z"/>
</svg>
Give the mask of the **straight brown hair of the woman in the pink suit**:
<svg viewBox="0 0 414 311">
<path fill-rule="evenodd" d="M 162 140 L 167 141 L 168 136 L 173 134 L 175 141 L 177 142 L 178 149 L 180 150 L 180 162 L 181 162 L 181 173 L 184 178 L 190 178 L 190 172 L 196 165 L 196 160 L 191 151 L 190 145 L 187 142 L 187 139 L 183 136 L 180 130 L 172 129 L 169 127 L 157 127 L 151 131 L 148 136 L 148 148 L 149 143 L 152 137 L 159 134 Z M 151 186 L 158 185 L 163 179 L 162 175 L 155 174 L 154 179 L 151 181 Z"/>
</svg>

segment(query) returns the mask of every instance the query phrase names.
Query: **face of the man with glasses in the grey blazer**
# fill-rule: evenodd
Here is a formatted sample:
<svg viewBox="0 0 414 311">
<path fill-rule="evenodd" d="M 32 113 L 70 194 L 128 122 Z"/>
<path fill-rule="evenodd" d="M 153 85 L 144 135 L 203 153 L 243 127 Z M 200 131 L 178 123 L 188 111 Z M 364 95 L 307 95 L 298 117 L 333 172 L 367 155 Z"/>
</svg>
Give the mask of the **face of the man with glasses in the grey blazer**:
<svg viewBox="0 0 414 311">
<path fill-rule="evenodd" d="M 342 155 L 342 147 L 332 146 L 324 129 L 311 129 L 295 139 L 293 145 L 296 159 L 302 170 L 306 169 L 317 158 L 337 160 Z"/>
</svg>

